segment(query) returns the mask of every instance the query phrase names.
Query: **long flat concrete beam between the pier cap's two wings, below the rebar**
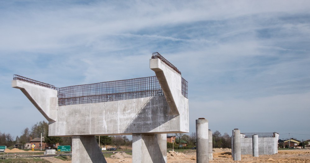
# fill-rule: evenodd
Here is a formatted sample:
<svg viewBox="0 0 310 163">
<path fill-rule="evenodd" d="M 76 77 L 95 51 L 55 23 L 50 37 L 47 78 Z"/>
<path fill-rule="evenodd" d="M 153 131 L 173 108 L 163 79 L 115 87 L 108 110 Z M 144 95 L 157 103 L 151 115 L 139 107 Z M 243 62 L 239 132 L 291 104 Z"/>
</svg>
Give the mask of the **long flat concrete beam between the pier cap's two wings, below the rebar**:
<svg viewBox="0 0 310 163">
<path fill-rule="evenodd" d="M 132 133 L 188 132 L 188 99 L 182 115 L 168 115 L 164 96 L 58 107 L 50 136 L 126 135 Z M 187 130 L 186 130 L 187 129 Z"/>
</svg>

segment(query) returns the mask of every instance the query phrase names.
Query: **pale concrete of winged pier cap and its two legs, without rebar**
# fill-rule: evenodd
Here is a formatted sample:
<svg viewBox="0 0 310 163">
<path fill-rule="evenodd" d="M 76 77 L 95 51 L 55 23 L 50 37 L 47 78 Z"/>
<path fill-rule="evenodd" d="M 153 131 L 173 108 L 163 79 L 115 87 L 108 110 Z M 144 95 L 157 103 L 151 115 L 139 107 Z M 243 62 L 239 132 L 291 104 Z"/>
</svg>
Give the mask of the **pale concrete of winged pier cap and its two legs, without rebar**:
<svg viewBox="0 0 310 163">
<path fill-rule="evenodd" d="M 162 136 L 189 132 L 188 99 L 181 92 L 180 74 L 160 59 L 150 59 L 150 68 L 164 96 L 58 106 L 56 90 L 18 80 L 12 81 L 12 87 L 20 89 L 48 120 L 49 136 L 72 137 L 72 162 L 105 162 L 94 135 L 132 134 L 133 162 L 164 163 Z"/>
</svg>

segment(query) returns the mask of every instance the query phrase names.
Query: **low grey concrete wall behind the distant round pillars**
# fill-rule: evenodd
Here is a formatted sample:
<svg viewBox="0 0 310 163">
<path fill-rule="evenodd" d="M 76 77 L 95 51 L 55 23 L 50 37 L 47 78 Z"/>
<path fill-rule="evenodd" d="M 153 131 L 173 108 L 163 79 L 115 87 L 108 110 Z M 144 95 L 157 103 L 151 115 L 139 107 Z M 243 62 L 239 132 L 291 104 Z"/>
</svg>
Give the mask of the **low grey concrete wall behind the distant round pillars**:
<svg viewBox="0 0 310 163">
<path fill-rule="evenodd" d="M 259 155 L 272 155 L 278 153 L 278 138 L 258 138 L 258 154 Z M 241 154 L 242 155 L 252 155 L 252 138 L 240 138 L 241 143 Z"/>
</svg>

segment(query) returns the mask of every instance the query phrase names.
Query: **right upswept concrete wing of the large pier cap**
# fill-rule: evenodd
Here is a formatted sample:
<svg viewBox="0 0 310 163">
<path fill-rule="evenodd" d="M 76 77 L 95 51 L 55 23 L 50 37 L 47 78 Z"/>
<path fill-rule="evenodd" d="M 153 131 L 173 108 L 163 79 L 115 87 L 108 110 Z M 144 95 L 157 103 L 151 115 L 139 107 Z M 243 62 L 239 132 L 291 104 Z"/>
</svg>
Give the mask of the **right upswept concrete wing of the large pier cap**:
<svg viewBox="0 0 310 163">
<path fill-rule="evenodd" d="M 155 72 L 162 87 L 170 108 L 168 113 L 170 115 L 180 115 L 180 105 L 183 97 L 181 75 L 158 58 L 150 59 L 150 68 Z"/>
</svg>

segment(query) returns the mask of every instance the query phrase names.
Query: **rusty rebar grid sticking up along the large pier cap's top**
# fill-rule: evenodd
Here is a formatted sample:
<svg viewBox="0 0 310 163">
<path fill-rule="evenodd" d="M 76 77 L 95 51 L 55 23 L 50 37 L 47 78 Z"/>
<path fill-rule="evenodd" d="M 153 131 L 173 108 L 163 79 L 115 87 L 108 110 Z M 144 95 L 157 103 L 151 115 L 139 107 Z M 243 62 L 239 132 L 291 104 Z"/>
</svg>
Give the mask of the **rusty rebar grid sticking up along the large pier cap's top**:
<svg viewBox="0 0 310 163">
<path fill-rule="evenodd" d="M 181 72 L 173 64 L 167 61 L 159 53 L 153 53 L 152 59 L 154 58 L 161 59 L 165 64 L 170 66 L 177 73 L 181 74 Z M 14 75 L 13 80 L 20 80 L 57 90 L 59 106 L 101 103 L 164 95 L 156 76 L 67 86 L 62 88 L 57 88 L 53 85 L 39 82 L 27 77 L 22 77 L 20 75 Z M 183 77 L 181 78 L 181 85 L 182 95 L 187 98 L 188 82 Z"/>
</svg>

